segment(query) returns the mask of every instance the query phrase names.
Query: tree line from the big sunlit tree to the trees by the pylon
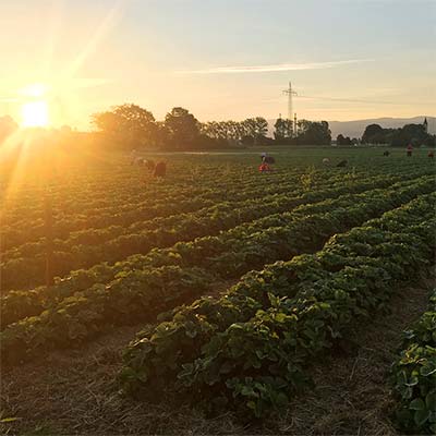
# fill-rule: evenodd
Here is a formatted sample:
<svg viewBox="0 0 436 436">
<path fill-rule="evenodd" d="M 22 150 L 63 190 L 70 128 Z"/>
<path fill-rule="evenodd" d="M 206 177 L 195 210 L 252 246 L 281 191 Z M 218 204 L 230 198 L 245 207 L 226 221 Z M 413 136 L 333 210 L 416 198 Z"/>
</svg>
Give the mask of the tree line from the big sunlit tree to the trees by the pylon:
<svg viewBox="0 0 436 436">
<path fill-rule="evenodd" d="M 327 121 L 301 120 L 296 132 L 290 120 L 279 118 L 274 138 L 267 136 L 268 122 L 263 117 L 244 121 L 199 122 L 187 109 L 171 109 L 164 121 L 137 105 L 116 106 L 92 116 L 92 123 L 105 141 L 125 148 L 155 147 L 183 150 L 250 145 L 296 144 L 329 145 L 331 132 Z"/>
</svg>

